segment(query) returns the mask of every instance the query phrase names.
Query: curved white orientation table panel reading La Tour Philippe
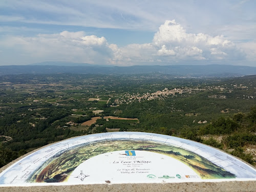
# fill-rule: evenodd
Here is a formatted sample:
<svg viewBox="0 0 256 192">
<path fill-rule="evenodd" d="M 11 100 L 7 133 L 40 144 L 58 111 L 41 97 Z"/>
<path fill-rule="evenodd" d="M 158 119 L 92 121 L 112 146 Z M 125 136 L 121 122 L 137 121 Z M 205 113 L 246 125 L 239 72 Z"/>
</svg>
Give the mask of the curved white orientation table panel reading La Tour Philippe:
<svg viewBox="0 0 256 192">
<path fill-rule="evenodd" d="M 226 181 L 255 183 L 256 170 L 198 142 L 140 132 L 53 143 L 7 165 L 0 174 L 2 187 Z"/>
</svg>

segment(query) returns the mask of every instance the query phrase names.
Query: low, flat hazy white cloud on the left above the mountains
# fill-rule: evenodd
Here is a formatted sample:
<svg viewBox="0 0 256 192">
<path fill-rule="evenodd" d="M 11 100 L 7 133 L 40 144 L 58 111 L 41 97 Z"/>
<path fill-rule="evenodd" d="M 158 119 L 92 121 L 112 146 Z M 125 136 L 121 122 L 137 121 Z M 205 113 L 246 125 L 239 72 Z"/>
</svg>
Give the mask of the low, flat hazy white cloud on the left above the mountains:
<svg viewBox="0 0 256 192">
<path fill-rule="evenodd" d="M 12 49 L 12 54 L 19 60 L 31 60 L 28 62 L 59 60 L 106 63 L 112 53 L 106 39 L 84 34 L 82 31 L 63 31 L 35 37 L 8 36 L 2 39 L 0 47 Z"/>
</svg>

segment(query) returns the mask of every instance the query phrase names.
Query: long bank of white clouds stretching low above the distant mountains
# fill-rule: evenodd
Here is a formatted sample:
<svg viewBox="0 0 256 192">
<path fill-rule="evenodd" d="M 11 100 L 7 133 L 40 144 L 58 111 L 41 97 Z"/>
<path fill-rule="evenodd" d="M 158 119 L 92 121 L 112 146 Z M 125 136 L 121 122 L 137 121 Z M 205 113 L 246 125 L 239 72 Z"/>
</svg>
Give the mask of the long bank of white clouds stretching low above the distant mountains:
<svg viewBox="0 0 256 192">
<path fill-rule="evenodd" d="M 246 56 L 243 50 L 224 36 L 187 33 L 175 20 L 166 20 L 152 42 L 125 47 L 111 44 L 103 36 L 86 35 L 83 31 L 38 34 L 34 37 L 6 36 L 1 41 L 0 50 L 4 51 L 0 55 L 12 49 L 15 59 L 28 62 L 58 60 L 118 66 L 232 64 L 244 60 Z M 10 61 L 15 61 L 13 56 L 9 57 Z"/>
</svg>

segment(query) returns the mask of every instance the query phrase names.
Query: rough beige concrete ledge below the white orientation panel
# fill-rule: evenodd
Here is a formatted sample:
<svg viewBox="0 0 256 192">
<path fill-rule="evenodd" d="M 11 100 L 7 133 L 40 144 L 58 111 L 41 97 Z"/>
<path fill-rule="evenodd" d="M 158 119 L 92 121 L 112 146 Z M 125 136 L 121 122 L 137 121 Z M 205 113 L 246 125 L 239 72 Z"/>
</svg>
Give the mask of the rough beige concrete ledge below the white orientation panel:
<svg viewBox="0 0 256 192">
<path fill-rule="evenodd" d="M 256 191 L 256 181 L 236 181 L 236 182 L 202 182 L 202 183 L 166 183 L 166 184 L 95 184 L 95 185 L 62 185 L 62 186 L 29 186 L 29 187 L 0 187 L 0 191 L 5 192 L 20 192 L 20 191 L 31 191 L 31 192 L 44 192 L 44 191 L 182 191 L 182 192 L 194 192 L 194 191 L 225 191 L 225 192 L 236 192 L 236 191 Z"/>
</svg>

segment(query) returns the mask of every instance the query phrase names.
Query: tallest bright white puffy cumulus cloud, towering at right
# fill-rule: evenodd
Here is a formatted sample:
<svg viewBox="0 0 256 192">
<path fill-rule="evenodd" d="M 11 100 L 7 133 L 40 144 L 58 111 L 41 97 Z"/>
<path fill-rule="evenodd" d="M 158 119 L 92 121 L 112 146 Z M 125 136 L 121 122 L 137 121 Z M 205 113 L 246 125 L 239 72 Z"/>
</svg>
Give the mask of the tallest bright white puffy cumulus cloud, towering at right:
<svg viewBox="0 0 256 192">
<path fill-rule="evenodd" d="M 243 53 L 224 36 L 187 33 L 175 20 L 166 20 L 155 33 L 153 45 L 158 48 L 158 55 L 176 59 L 219 60 L 234 56 L 243 58 Z M 228 52 L 228 53 L 227 53 Z M 239 53 L 239 54 L 238 54 Z M 238 55 L 236 55 L 238 54 Z"/>
</svg>

